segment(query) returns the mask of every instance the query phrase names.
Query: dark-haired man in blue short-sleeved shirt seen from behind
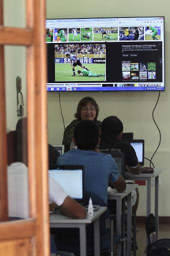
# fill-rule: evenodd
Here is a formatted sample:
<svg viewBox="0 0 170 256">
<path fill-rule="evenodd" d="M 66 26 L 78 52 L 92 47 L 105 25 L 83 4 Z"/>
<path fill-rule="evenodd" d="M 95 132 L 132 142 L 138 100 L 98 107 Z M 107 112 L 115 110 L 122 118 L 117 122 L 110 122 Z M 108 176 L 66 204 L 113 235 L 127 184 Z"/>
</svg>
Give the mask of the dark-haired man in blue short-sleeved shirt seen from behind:
<svg viewBox="0 0 170 256">
<path fill-rule="evenodd" d="M 86 190 L 100 196 L 107 203 L 109 179 L 119 192 L 126 189 L 126 182 L 119 174 L 112 156 L 95 151 L 99 143 L 99 128 L 94 121 L 83 120 L 76 125 L 74 143 L 78 149 L 62 154 L 57 164 L 84 165 Z"/>
</svg>

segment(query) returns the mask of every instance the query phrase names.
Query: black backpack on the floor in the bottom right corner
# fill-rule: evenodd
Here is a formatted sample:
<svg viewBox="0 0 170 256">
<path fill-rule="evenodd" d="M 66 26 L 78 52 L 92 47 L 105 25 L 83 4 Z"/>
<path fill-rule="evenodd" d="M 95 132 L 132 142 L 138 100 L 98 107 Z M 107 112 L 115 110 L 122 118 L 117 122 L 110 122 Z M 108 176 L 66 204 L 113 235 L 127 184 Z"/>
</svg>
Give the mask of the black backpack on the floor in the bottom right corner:
<svg viewBox="0 0 170 256">
<path fill-rule="evenodd" d="M 146 232 L 148 237 L 147 256 L 170 256 L 170 239 L 157 238 L 155 217 L 151 213 L 146 219 Z"/>
</svg>

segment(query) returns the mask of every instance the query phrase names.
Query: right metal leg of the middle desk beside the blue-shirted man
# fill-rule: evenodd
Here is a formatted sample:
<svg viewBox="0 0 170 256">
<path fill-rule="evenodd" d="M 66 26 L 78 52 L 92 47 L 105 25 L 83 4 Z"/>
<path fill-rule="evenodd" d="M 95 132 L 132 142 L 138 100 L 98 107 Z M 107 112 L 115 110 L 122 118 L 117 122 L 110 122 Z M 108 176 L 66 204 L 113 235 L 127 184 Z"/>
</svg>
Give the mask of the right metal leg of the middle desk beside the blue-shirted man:
<svg viewBox="0 0 170 256">
<path fill-rule="evenodd" d="M 132 198 L 131 193 L 128 194 L 127 199 L 127 256 L 132 255 Z"/>
</svg>

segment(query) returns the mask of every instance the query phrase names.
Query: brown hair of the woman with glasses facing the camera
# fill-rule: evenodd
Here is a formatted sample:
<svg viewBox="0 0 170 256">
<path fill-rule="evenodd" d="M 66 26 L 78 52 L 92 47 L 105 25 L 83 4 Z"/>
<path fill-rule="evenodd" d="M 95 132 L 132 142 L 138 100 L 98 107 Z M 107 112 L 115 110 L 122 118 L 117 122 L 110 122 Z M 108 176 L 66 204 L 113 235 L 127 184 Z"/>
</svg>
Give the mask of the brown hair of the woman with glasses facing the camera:
<svg viewBox="0 0 170 256">
<path fill-rule="evenodd" d="M 94 105 L 96 108 L 96 116 L 95 116 L 94 120 L 97 120 L 97 117 L 99 114 L 99 106 L 96 103 L 96 100 L 92 97 L 84 97 L 79 101 L 78 106 L 77 106 L 77 112 L 74 115 L 78 120 L 81 120 L 81 117 L 80 117 L 81 108 L 83 106 L 86 106 L 89 102 L 91 102 L 92 105 Z"/>
</svg>

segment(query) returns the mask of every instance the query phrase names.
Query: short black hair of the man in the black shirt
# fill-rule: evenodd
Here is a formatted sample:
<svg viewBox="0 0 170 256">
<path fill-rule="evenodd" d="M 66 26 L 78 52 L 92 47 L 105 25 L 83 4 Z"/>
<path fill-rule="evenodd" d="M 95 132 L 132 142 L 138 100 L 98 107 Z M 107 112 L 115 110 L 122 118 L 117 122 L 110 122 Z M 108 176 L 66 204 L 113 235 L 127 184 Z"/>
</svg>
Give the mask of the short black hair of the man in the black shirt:
<svg viewBox="0 0 170 256">
<path fill-rule="evenodd" d="M 123 131 L 123 123 L 117 116 L 111 115 L 102 121 L 102 137 L 108 135 L 116 137 L 121 131 Z"/>
</svg>

